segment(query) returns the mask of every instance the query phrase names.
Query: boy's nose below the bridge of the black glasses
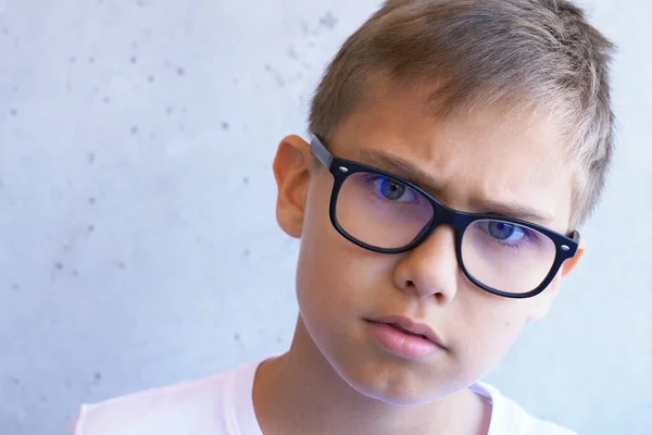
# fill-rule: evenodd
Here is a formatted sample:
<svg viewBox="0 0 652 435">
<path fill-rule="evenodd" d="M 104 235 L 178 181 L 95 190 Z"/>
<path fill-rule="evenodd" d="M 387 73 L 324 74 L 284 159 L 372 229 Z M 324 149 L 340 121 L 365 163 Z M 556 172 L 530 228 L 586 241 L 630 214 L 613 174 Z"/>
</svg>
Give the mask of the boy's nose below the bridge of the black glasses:
<svg viewBox="0 0 652 435">
<path fill-rule="evenodd" d="M 394 284 L 418 299 L 434 297 L 439 304 L 450 303 L 457 293 L 460 266 L 455 256 L 455 232 L 438 226 L 397 264 Z"/>
</svg>

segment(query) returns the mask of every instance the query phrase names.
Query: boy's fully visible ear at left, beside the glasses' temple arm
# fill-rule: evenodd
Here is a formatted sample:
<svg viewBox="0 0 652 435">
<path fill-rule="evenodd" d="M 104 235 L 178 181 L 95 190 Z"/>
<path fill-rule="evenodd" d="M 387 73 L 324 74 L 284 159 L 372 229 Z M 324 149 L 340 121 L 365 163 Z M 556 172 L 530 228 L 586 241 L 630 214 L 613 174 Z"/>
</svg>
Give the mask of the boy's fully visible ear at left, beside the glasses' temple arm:
<svg viewBox="0 0 652 435">
<path fill-rule="evenodd" d="M 301 237 L 312 161 L 310 145 L 296 135 L 280 141 L 274 158 L 274 177 L 278 187 L 276 220 L 291 237 Z"/>
</svg>

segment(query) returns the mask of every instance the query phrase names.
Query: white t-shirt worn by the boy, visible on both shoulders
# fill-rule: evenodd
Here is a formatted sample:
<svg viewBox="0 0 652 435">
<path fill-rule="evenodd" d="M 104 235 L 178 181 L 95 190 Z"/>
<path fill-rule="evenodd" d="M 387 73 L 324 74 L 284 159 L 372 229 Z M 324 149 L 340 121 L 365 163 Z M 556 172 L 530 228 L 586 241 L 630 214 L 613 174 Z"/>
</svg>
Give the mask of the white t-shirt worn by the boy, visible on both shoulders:
<svg viewBox="0 0 652 435">
<path fill-rule="evenodd" d="M 252 401 L 259 364 L 84 405 L 74 435 L 263 435 Z M 528 415 L 487 384 L 472 389 L 492 405 L 488 435 L 577 435 Z"/>
</svg>

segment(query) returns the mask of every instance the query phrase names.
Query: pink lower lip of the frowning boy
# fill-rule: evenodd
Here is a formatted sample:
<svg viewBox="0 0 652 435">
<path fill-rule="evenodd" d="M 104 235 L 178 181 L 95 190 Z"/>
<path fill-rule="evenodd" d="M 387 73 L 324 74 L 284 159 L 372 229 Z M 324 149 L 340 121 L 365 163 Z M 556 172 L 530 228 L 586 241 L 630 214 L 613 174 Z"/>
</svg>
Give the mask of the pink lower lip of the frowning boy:
<svg viewBox="0 0 652 435">
<path fill-rule="evenodd" d="M 406 334 L 387 323 L 367 322 L 380 346 L 406 359 L 423 359 L 443 350 L 427 338 Z"/>
</svg>

